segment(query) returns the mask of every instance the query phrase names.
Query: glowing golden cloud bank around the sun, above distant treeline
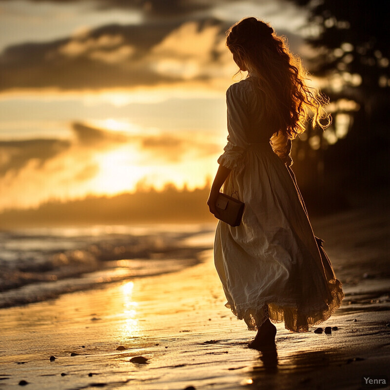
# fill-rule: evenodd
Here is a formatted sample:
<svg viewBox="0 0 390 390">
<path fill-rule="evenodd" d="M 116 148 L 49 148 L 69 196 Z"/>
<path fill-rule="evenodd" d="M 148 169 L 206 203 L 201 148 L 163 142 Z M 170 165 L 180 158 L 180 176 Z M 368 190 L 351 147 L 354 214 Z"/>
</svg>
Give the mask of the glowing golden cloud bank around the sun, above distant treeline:
<svg viewBox="0 0 390 390">
<path fill-rule="evenodd" d="M 0 210 L 129 191 L 143 179 L 159 187 L 175 180 L 182 185 L 194 173 L 203 175 L 204 167 L 214 170 L 209 160 L 221 150 L 201 135 L 126 134 L 83 123 L 71 128 L 68 140 L 0 142 Z"/>
</svg>

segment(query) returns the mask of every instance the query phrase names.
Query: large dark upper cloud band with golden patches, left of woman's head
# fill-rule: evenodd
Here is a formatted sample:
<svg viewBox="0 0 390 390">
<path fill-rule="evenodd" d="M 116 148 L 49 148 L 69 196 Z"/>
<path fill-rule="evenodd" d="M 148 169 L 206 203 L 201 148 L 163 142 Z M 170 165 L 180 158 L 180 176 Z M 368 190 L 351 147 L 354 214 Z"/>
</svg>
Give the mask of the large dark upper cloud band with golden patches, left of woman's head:
<svg viewBox="0 0 390 390">
<path fill-rule="evenodd" d="M 226 28 L 215 19 L 170 20 L 10 46 L 0 55 L 0 90 L 126 88 L 211 78 L 224 66 Z"/>
</svg>

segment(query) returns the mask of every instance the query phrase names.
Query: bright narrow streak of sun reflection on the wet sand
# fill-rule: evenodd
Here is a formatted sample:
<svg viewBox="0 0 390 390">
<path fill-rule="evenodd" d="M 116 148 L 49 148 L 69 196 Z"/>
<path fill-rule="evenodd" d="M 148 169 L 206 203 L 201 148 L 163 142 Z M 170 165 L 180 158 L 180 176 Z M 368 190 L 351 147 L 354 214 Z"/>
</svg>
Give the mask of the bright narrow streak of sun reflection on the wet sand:
<svg viewBox="0 0 390 390">
<path fill-rule="evenodd" d="M 139 336 L 141 329 L 137 318 L 138 303 L 133 301 L 134 282 L 127 282 L 121 288 L 123 297 L 124 325 L 120 328 L 121 338 L 133 338 Z"/>
</svg>

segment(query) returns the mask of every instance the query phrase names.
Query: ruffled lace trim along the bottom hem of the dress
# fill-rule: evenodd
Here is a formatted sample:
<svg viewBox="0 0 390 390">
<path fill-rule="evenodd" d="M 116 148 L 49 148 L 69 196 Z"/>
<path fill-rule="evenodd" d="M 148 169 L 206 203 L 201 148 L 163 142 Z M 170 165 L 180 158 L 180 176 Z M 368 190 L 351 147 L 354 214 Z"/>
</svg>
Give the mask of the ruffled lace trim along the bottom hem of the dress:
<svg viewBox="0 0 390 390">
<path fill-rule="evenodd" d="M 345 294 L 339 280 L 330 283 L 331 302 L 308 307 L 292 306 L 290 302 L 250 302 L 234 307 L 229 302 L 226 307 L 231 309 L 237 319 L 243 319 L 250 331 L 256 331 L 269 318 L 272 322 L 285 323 L 285 328 L 292 332 L 307 332 L 309 327 L 326 321 L 341 305 Z"/>
</svg>

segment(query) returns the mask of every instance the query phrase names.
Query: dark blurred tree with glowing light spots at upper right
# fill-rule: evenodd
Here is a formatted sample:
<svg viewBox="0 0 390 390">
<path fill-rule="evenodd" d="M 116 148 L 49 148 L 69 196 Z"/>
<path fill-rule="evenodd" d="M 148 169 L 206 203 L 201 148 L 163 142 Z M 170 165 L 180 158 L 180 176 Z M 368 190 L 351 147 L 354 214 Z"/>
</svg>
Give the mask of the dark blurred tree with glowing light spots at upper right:
<svg viewBox="0 0 390 390">
<path fill-rule="evenodd" d="M 322 181 L 352 191 L 362 184 L 370 185 L 371 190 L 388 184 L 388 2 L 292 1 L 309 10 L 308 24 L 302 29 L 311 47 L 305 64 L 312 74 L 326 81 L 322 90 L 332 102 L 334 125 L 323 137 L 315 131 L 314 136 L 309 134 L 326 149 L 319 153 L 319 168 L 325 166 Z M 297 143 L 299 154 L 303 145 Z"/>
</svg>

